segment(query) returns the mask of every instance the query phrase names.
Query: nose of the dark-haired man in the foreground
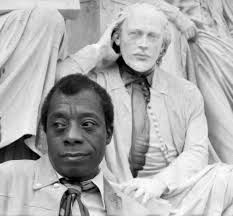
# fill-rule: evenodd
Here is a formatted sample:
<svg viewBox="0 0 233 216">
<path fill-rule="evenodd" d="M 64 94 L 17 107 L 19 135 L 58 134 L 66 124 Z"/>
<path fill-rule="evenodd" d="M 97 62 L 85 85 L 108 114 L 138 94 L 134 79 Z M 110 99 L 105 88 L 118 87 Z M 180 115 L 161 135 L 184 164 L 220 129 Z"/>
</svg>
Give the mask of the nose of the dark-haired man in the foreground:
<svg viewBox="0 0 233 216">
<path fill-rule="evenodd" d="M 65 144 L 82 144 L 82 130 L 77 123 L 72 122 L 65 138 Z"/>
</svg>

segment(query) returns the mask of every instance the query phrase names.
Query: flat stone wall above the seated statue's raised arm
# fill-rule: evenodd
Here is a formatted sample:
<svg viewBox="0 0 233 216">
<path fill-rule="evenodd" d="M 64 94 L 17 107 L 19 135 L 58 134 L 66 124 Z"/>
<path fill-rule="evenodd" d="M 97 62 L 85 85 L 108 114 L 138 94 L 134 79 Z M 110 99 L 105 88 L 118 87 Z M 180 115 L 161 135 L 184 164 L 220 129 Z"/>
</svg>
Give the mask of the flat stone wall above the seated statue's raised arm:
<svg viewBox="0 0 233 216">
<path fill-rule="evenodd" d="M 80 0 L 81 10 L 75 20 L 67 20 L 69 51 L 71 53 L 94 43 L 106 25 L 127 2 L 135 0 Z"/>
</svg>

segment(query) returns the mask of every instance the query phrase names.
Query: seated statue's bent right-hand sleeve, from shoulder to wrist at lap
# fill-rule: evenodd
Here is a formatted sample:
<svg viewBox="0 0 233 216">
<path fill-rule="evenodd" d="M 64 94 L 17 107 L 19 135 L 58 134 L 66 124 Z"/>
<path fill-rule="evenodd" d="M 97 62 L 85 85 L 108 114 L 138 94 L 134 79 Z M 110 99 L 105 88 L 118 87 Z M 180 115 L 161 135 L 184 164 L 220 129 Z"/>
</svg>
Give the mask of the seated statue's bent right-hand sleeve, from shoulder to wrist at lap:
<svg viewBox="0 0 233 216">
<path fill-rule="evenodd" d="M 204 102 L 197 87 L 185 92 L 184 121 L 186 135 L 184 147 L 179 156 L 155 177 L 167 185 L 168 189 L 183 184 L 208 164 L 208 127 L 204 112 Z"/>
</svg>

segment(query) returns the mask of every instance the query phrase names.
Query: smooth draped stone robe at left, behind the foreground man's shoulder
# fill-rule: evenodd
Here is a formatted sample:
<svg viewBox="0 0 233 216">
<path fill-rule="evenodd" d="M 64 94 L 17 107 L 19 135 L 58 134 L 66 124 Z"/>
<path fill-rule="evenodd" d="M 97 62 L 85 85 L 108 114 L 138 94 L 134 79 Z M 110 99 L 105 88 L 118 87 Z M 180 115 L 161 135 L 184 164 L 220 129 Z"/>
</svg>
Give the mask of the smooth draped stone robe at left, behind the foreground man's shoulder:
<svg viewBox="0 0 233 216">
<path fill-rule="evenodd" d="M 41 102 L 54 85 L 57 60 L 65 53 L 64 35 L 64 19 L 53 9 L 0 16 L 0 148 L 36 135 Z M 31 141 L 28 145 L 35 150 Z M 22 139 L 15 145 L 20 143 Z M 16 154 L 20 148 L 15 148 Z M 14 147 L 3 160 L 13 159 L 12 151 Z"/>
</svg>

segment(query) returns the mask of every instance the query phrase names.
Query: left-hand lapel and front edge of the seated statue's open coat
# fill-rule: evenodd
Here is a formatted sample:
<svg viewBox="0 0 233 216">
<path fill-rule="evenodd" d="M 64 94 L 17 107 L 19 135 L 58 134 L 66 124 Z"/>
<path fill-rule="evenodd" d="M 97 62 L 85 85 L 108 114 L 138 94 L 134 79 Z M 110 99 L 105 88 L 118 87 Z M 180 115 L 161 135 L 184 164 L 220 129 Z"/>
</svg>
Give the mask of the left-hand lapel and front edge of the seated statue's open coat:
<svg viewBox="0 0 233 216">
<path fill-rule="evenodd" d="M 128 163 L 132 133 L 131 98 L 121 79 L 118 65 L 106 68 L 103 74 L 114 105 L 114 136 L 107 147 L 106 161 L 111 164 L 113 173 L 121 173 L 116 176 L 118 180 L 126 181 L 132 178 Z"/>
</svg>

